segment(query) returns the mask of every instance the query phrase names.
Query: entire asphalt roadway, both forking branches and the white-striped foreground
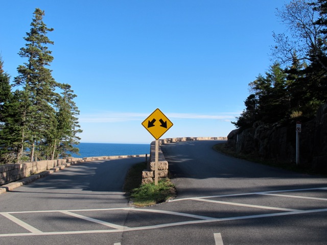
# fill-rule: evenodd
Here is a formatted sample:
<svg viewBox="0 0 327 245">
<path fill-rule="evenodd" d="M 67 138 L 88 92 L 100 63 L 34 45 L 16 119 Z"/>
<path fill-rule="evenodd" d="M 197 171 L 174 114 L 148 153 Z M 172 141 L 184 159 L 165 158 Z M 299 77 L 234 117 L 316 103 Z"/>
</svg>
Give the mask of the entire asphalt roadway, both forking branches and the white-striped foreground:
<svg viewBox="0 0 327 245">
<path fill-rule="evenodd" d="M 128 206 L 134 158 L 82 163 L 0 195 L 0 244 L 326 244 L 327 178 L 219 154 L 219 141 L 162 146 L 178 195 Z"/>
</svg>

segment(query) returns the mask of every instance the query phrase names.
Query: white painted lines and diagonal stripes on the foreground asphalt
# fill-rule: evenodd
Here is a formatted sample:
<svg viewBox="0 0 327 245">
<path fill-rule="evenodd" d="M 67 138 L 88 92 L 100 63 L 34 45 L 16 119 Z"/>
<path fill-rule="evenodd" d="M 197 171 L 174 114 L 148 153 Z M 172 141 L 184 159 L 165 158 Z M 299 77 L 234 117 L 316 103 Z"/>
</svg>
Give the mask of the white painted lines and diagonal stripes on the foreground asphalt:
<svg viewBox="0 0 327 245">
<path fill-rule="evenodd" d="M 307 191 L 307 190 L 327 190 L 325 187 L 321 188 L 310 188 L 310 189 L 297 189 L 297 191 Z M 305 196 L 298 196 L 298 195 L 286 195 L 286 194 L 277 194 L 277 192 L 289 192 L 295 190 L 278 190 L 278 191 L 267 191 L 267 192 L 254 192 L 254 193 L 238 193 L 238 194 L 230 194 L 230 195 L 220 195 L 220 196 L 213 196 L 211 198 L 219 198 L 219 197 L 235 197 L 235 196 L 242 196 L 242 195 L 249 195 L 249 194 L 262 194 L 262 195 L 276 195 L 288 198 L 304 198 L 304 199 L 312 199 L 312 200 L 322 200 L 327 201 L 324 198 L 312 198 L 312 197 L 305 197 Z M 293 214 L 305 214 L 305 213 L 314 213 L 314 212 L 327 212 L 327 207 L 322 209 L 311 209 L 311 210 L 297 210 L 297 209 L 287 209 L 287 208 L 278 208 L 278 207 L 267 207 L 267 206 L 260 206 L 260 205 L 252 205 L 252 204 L 242 204 L 242 203 L 233 203 L 233 202 L 222 202 L 216 200 L 209 200 L 210 197 L 200 197 L 200 198 L 188 198 L 188 199 L 179 199 L 176 201 L 183 201 L 183 200 L 193 200 L 193 201 L 201 201 L 201 202 L 210 202 L 216 204 L 225 204 L 225 205 L 236 205 L 236 206 L 243 206 L 243 207 L 251 207 L 251 208 L 262 208 L 262 209 L 271 209 L 271 210 L 278 210 L 282 212 L 278 213 L 266 213 L 266 214 L 257 214 L 257 215 L 246 215 L 246 216 L 231 216 L 231 217 L 207 217 L 201 216 L 196 214 L 190 213 L 182 213 L 182 212 L 174 212 L 174 211 L 165 211 L 165 210 L 155 210 L 155 209 L 136 209 L 136 208 L 107 208 L 107 209 L 81 209 L 81 210 L 48 210 L 48 211 L 17 211 L 17 212 L 0 212 L 0 214 L 12 222 L 16 223 L 17 225 L 25 228 L 27 231 L 26 233 L 11 233 L 11 234 L 0 234 L 0 237 L 8 237 L 8 236 L 34 236 L 34 235 L 63 235 L 63 234 L 87 234 L 87 233 L 113 233 L 113 232 L 123 232 L 123 231 L 138 231 L 138 230 L 148 230 L 148 229 L 157 229 L 157 228 L 164 228 L 164 227 L 173 227 L 173 226 L 181 226 L 181 225 L 191 225 L 191 224 L 201 224 L 201 223 L 210 223 L 210 222 L 222 222 L 228 220 L 241 220 L 241 219 L 250 219 L 250 218 L 262 218 L 262 217 L 274 217 L 274 216 L 283 216 L 283 215 L 293 215 Z M 120 226 L 116 224 L 112 224 L 109 222 L 105 222 L 101 219 L 95 219 L 91 217 L 87 217 L 84 215 L 77 214 L 76 212 L 91 212 L 91 211 L 103 211 L 103 212 L 110 212 L 113 210 L 125 210 L 128 212 L 151 212 L 151 213 L 161 213 L 167 215 L 175 215 L 176 217 L 189 217 L 194 220 L 189 221 L 182 221 L 180 222 L 178 219 L 174 223 L 167 223 L 167 224 L 156 224 L 152 226 L 139 226 L 139 227 L 126 227 Z M 195 210 L 196 211 L 196 210 Z M 46 213 L 46 212 L 60 212 L 69 216 L 73 216 L 76 218 L 81 218 L 84 220 L 88 220 L 89 222 L 94 222 L 97 224 L 104 225 L 111 229 L 103 229 L 103 230 L 85 230 L 85 231 L 60 231 L 60 232 L 42 232 L 35 227 L 23 222 L 22 220 L 16 218 L 12 214 L 15 213 Z M 215 242 L 216 245 L 223 245 L 222 238 L 220 233 L 215 233 Z M 120 242 L 114 243 L 114 245 L 120 245 Z"/>
</svg>

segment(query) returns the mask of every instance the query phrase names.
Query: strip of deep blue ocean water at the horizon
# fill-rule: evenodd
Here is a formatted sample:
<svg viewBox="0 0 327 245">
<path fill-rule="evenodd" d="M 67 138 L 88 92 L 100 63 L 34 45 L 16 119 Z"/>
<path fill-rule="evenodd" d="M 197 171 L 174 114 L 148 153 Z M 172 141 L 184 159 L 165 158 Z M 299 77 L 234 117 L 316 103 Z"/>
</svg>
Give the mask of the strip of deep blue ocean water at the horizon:
<svg viewBox="0 0 327 245">
<path fill-rule="evenodd" d="M 100 157 L 150 154 L 150 144 L 80 143 L 80 155 L 73 157 Z"/>
</svg>

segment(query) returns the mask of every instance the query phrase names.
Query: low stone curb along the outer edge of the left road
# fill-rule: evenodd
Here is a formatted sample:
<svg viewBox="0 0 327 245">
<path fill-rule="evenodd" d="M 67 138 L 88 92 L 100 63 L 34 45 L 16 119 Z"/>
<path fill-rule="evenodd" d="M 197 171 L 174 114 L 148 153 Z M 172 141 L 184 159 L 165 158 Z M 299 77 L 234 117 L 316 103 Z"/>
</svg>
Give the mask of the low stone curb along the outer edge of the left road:
<svg viewBox="0 0 327 245">
<path fill-rule="evenodd" d="M 45 176 L 51 175 L 54 172 L 57 172 L 59 170 L 64 169 L 65 167 L 69 167 L 72 164 L 77 164 L 77 163 L 82 163 L 82 162 L 88 162 L 88 161 L 96 161 L 96 160 L 114 160 L 114 159 L 121 159 L 121 158 L 131 158 L 131 157 L 145 157 L 146 154 L 144 155 L 128 155 L 128 156 L 103 156 L 103 157 L 84 157 L 82 160 L 78 161 L 72 161 L 72 162 L 66 162 L 64 164 L 58 165 L 56 167 L 50 168 L 49 170 L 42 171 L 38 174 L 31 175 L 29 177 L 26 177 L 21 180 L 17 180 L 15 182 L 11 182 L 6 185 L 0 186 L 0 194 L 5 193 L 7 191 L 12 191 L 13 189 L 22 186 L 22 185 L 27 185 L 37 179 L 43 178 Z"/>
</svg>

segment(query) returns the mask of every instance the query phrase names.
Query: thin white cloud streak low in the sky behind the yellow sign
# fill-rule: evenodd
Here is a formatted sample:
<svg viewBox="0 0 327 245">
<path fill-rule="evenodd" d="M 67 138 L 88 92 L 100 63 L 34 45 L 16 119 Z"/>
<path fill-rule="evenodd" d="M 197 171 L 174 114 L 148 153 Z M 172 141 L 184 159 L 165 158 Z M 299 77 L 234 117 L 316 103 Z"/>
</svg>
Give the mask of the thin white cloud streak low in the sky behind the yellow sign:
<svg viewBox="0 0 327 245">
<path fill-rule="evenodd" d="M 165 113 L 169 119 L 213 119 L 230 121 L 240 115 L 240 112 L 226 112 L 213 115 L 197 114 L 197 113 Z M 149 114 L 147 113 L 135 113 L 135 112 L 103 112 L 96 114 L 83 114 L 79 116 L 80 122 L 123 122 L 134 120 L 145 120 Z"/>
</svg>

